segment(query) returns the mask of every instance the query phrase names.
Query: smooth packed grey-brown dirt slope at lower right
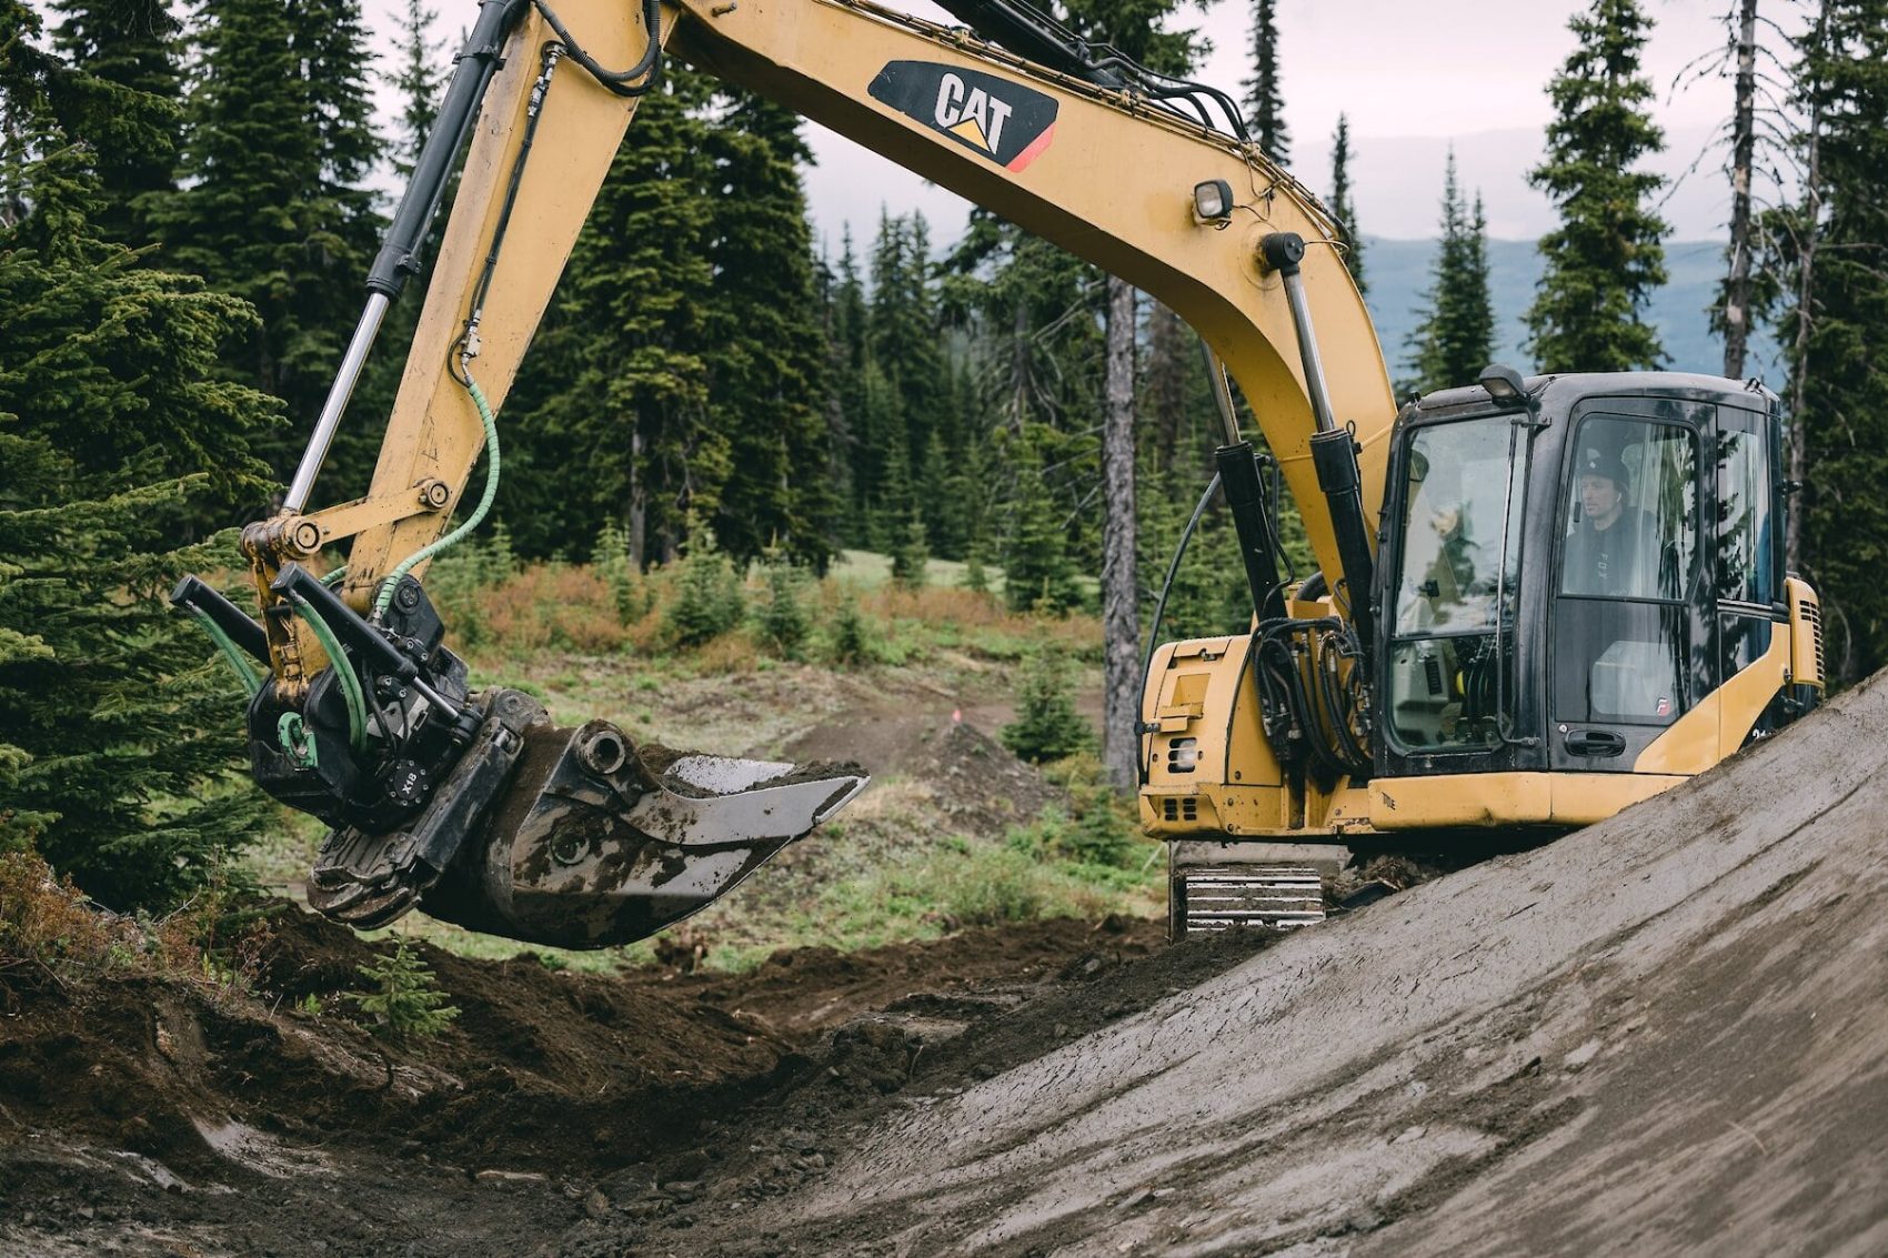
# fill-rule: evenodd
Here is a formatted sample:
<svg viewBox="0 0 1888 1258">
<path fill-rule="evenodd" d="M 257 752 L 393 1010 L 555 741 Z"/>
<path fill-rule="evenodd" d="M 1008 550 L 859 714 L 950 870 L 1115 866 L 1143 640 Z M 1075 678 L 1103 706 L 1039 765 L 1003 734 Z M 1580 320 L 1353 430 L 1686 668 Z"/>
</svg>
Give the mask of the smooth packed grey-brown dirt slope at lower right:
<svg viewBox="0 0 1888 1258">
<path fill-rule="evenodd" d="M 1888 684 L 895 1111 L 723 1252 L 1888 1252 Z"/>
</svg>

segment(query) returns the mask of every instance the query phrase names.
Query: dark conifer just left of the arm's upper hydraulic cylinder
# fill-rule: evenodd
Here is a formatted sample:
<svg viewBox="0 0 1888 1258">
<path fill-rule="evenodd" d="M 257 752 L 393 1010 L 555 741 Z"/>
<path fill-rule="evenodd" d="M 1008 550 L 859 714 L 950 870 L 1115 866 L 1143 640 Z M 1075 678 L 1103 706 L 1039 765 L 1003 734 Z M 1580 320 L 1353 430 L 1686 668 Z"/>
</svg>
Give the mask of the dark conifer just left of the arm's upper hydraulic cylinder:
<svg viewBox="0 0 1888 1258">
<path fill-rule="evenodd" d="M 359 0 L 221 0 L 198 34 L 181 187 L 151 206 L 166 264 L 255 306 L 227 361 L 289 406 L 266 448 L 287 476 L 361 312 L 379 238 L 368 172 L 366 30 Z"/>
</svg>

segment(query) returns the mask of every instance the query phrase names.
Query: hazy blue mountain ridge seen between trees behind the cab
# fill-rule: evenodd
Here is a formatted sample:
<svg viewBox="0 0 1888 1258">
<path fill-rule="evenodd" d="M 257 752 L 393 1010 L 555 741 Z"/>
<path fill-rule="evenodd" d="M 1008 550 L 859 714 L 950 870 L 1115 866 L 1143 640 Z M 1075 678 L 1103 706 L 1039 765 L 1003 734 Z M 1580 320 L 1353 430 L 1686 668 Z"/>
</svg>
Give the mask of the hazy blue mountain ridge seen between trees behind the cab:
<svg viewBox="0 0 1888 1258">
<path fill-rule="evenodd" d="M 1376 334 L 1382 338 L 1390 378 L 1407 372 L 1410 357 L 1408 336 L 1422 321 L 1429 287 L 1429 268 L 1435 263 L 1435 240 L 1363 238 L 1363 276 L 1369 281 L 1367 304 Z M 1671 280 L 1652 295 L 1650 321 L 1665 346 L 1665 366 L 1680 372 L 1724 370 L 1724 340 L 1711 331 L 1707 308 L 1716 298 L 1724 276 L 1724 244 L 1716 240 L 1677 240 L 1665 244 L 1665 270 Z M 1533 370 L 1533 355 L 1522 346 L 1527 329 L 1522 315 L 1533 304 L 1541 281 L 1541 253 L 1531 240 L 1488 242 L 1490 291 L 1495 300 L 1495 359 Z M 1762 376 L 1773 389 L 1782 383 L 1777 342 L 1767 329 L 1752 338 L 1746 376 Z M 1463 382 L 1469 383 L 1469 382 Z"/>
</svg>

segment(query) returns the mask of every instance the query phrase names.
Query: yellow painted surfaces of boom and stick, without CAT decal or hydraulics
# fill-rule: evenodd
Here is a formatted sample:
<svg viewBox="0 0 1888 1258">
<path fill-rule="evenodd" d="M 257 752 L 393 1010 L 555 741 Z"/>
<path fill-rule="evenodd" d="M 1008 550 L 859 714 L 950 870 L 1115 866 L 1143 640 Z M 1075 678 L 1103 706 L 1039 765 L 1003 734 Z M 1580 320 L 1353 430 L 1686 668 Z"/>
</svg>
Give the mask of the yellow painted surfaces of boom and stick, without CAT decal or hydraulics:
<svg viewBox="0 0 1888 1258">
<path fill-rule="evenodd" d="M 644 51 L 636 6 L 561 0 L 557 11 L 604 64 L 631 64 Z M 674 55 L 884 153 L 1159 298 L 1225 361 L 1282 459 L 1291 497 L 1318 502 L 1308 459 L 1314 423 L 1297 334 L 1278 276 L 1263 272 L 1257 261 L 1265 232 L 1305 236 L 1314 247 L 1305 255 L 1303 278 L 1333 406 L 1340 423 L 1356 425 L 1363 444 L 1365 512 L 1374 521 L 1395 417 L 1376 331 L 1339 251 L 1316 247 L 1335 236 L 1329 212 L 1256 145 L 1150 113 L 1135 96 L 1044 72 L 963 30 L 863 2 L 680 0 L 661 6 L 661 23 Z M 449 487 L 451 502 L 444 512 L 415 502 L 391 521 L 347 521 L 366 523 L 349 553 L 344 591 L 355 606 L 366 604 L 393 563 L 444 531 L 483 448 L 478 414 L 446 368 L 497 225 L 546 40 L 542 17 L 532 9 L 487 93 L 366 495 L 398 501 L 436 478 Z M 1006 170 L 870 98 L 868 83 L 891 60 L 980 70 L 1044 93 L 1057 102 L 1055 140 L 1021 172 Z M 525 348 L 634 108 L 634 98 L 612 96 L 574 62 L 559 66 L 485 302 L 483 348 L 472 366 L 498 410 L 500 433 L 502 404 Z M 1201 179 L 1225 179 L 1233 187 L 1233 227 L 1193 223 L 1191 193 Z M 1337 546 L 1323 512 L 1308 512 L 1305 525 L 1318 563 L 1337 572 Z"/>
</svg>

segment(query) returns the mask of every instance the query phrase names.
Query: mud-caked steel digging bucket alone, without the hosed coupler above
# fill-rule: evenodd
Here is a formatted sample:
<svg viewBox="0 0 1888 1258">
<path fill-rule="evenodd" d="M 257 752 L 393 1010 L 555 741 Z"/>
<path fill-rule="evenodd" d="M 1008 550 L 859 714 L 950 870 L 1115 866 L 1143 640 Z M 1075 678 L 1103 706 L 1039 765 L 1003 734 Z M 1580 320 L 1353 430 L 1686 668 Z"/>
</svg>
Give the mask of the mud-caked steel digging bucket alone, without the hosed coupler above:
<svg viewBox="0 0 1888 1258">
<path fill-rule="evenodd" d="M 610 722 L 559 729 L 510 689 L 483 706 L 480 739 L 419 818 L 329 835 L 312 907 L 361 929 L 417 905 L 527 943 L 623 944 L 712 905 L 868 780 L 853 765 L 638 748 Z"/>
</svg>

